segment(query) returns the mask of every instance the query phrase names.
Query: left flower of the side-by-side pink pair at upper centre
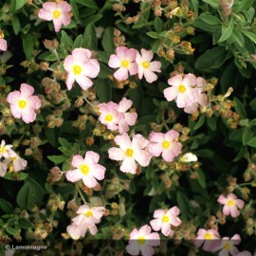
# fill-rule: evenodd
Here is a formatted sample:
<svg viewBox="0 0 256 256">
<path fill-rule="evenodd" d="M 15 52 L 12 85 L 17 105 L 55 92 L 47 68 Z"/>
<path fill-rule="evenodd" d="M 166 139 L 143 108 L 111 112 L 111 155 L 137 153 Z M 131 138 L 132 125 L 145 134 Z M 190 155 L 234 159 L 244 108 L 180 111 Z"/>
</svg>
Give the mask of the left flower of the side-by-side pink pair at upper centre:
<svg viewBox="0 0 256 256">
<path fill-rule="evenodd" d="M 128 72 L 131 76 L 137 74 L 136 56 L 136 49 L 129 49 L 125 46 L 117 47 L 116 55 L 111 54 L 108 65 L 113 68 L 119 67 L 119 70 L 114 73 L 114 77 L 117 80 L 123 81 L 128 79 Z"/>
</svg>

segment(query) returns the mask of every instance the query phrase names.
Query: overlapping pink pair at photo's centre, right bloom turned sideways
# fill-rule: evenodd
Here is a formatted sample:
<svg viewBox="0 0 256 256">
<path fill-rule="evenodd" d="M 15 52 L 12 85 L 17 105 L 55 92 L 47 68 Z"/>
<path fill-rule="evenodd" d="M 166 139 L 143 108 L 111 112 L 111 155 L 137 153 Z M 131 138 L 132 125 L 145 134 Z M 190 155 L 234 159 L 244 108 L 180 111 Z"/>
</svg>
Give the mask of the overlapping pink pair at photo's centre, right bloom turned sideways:
<svg viewBox="0 0 256 256">
<path fill-rule="evenodd" d="M 119 134 L 129 131 L 129 126 L 135 125 L 137 113 L 127 112 L 133 101 L 123 98 L 119 104 L 110 101 L 98 105 L 101 115 L 99 120 L 111 131 L 119 130 Z"/>
</svg>

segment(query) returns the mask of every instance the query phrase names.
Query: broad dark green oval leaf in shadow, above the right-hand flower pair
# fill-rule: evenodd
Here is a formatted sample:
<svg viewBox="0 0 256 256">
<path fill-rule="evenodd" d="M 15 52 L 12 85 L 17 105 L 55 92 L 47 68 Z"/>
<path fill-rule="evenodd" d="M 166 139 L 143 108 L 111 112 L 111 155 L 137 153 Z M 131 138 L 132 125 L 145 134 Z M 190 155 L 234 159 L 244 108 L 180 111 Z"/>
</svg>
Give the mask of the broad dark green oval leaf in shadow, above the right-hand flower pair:
<svg viewBox="0 0 256 256">
<path fill-rule="evenodd" d="M 195 67 L 205 72 L 211 72 L 210 68 L 219 68 L 225 63 L 228 52 L 225 47 L 217 46 L 207 50 L 195 62 Z"/>
</svg>

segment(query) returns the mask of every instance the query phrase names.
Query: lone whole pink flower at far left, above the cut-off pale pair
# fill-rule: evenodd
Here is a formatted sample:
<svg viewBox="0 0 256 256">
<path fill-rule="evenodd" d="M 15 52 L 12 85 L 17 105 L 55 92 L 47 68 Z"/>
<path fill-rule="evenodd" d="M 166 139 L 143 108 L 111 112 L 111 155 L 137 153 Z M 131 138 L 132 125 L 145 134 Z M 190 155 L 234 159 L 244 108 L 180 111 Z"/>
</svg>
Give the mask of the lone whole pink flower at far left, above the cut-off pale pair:
<svg viewBox="0 0 256 256">
<path fill-rule="evenodd" d="M 16 119 L 23 119 L 26 123 L 36 119 L 36 109 L 41 107 L 39 97 L 32 95 L 34 88 L 22 83 L 20 91 L 10 92 L 7 101 L 10 104 L 10 112 Z"/>
</svg>

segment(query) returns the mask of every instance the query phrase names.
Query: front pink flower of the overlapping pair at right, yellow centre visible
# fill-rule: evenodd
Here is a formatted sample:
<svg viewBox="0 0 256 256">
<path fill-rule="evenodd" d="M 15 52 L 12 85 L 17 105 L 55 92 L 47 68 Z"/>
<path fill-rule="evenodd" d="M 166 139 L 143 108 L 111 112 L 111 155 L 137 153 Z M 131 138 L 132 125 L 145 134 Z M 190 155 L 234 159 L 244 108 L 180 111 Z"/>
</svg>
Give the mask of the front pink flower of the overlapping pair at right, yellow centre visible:
<svg viewBox="0 0 256 256">
<path fill-rule="evenodd" d="M 172 87 L 164 89 L 164 97 L 167 101 L 176 101 L 177 107 L 183 108 L 189 106 L 198 97 L 198 91 L 194 90 L 193 86 L 196 85 L 196 77 L 192 74 L 175 75 L 168 80 Z"/>
</svg>

